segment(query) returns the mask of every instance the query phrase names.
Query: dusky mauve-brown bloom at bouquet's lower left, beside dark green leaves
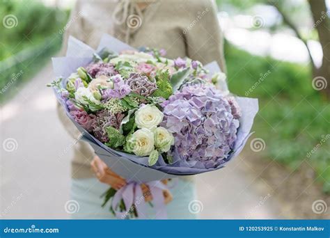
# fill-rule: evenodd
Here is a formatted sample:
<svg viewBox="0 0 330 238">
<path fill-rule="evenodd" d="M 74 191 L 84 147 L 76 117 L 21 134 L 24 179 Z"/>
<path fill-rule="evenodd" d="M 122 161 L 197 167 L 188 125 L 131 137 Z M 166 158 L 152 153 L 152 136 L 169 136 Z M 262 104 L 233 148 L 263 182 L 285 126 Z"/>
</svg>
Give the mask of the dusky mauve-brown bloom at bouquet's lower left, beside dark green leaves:
<svg viewBox="0 0 330 238">
<path fill-rule="evenodd" d="M 107 110 L 97 111 L 96 118 L 92 124 L 94 136 L 101 142 L 108 142 L 107 127 L 119 129 L 120 122 L 123 120 L 124 114 L 116 115 Z"/>
</svg>

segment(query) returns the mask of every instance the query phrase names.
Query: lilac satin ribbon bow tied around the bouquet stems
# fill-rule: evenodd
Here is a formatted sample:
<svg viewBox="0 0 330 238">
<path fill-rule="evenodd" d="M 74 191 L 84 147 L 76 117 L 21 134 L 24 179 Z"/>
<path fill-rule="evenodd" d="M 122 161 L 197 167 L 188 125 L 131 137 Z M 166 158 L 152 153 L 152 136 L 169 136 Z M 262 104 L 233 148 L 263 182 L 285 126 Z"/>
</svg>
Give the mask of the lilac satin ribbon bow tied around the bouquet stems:
<svg viewBox="0 0 330 238">
<path fill-rule="evenodd" d="M 150 193 L 152 194 L 152 205 L 154 205 L 156 210 L 155 219 L 166 219 L 166 205 L 164 201 L 163 190 L 168 189 L 168 187 L 161 181 L 146 182 Z M 125 211 L 120 211 L 119 204 L 123 199 L 125 204 Z M 119 189 L 111 203 L 111 207 L 116 214 L 118 219 L 127 219 L 129 215 L 129 209 L 132 205 L 135 206 L 136 212 L 138 214 L 138 219 L 147 219 L 146 217 L 146 202 L 145 196 L 143 196 L 143 191 L 141 189 L 141 183 L 129 182 L 125 187 Z"/>
</svg>

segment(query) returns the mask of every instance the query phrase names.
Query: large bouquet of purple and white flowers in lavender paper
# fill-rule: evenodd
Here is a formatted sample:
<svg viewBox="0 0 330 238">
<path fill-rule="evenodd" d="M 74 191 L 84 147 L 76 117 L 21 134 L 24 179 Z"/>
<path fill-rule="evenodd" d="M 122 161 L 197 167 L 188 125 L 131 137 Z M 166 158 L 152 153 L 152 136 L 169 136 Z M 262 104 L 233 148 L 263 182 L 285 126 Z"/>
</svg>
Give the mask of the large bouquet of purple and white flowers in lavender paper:
<svg viewBox="0 0 330 238">
<path fill-rule="evenodd" d="M 159 180 L 225 166 L 244 147 L 258 111 L 257 100 L 228 92 L 216 63 L 165 54 L 104 35 L 96 51 L 70 38 L 67 56 L 53 58 L 49 86 L 95 154 L 129 181 L 105 193 L 118 217 L 143 216 L 141 183 L 160 210 L 166 185 Z"/>
</svg>

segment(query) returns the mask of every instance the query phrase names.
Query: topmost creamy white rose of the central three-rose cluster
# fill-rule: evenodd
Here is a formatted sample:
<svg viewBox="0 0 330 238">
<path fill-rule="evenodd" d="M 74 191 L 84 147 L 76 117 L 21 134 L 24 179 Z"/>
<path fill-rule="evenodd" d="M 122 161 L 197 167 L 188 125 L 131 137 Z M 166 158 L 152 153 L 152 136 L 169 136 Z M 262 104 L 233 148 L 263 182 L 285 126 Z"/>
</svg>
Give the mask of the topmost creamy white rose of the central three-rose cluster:
<svg viewBox="0 0 330 238">
<path fill-rule="evenodd" d="M 164 114 L 157 106 L 146 104 L 135 113 L 135 123 L 139 128 L 155 129 L 163 120 Z"/>
</svg>

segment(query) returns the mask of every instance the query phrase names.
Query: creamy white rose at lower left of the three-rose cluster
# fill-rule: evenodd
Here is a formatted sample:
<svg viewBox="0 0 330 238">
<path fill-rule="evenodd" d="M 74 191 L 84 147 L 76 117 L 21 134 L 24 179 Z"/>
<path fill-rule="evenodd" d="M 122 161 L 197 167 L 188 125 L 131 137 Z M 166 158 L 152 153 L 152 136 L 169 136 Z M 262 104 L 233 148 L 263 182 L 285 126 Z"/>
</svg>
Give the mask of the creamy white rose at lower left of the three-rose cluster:
<svg viewBox="0 0 330 238">
<path fill-rule="evenodd" d="M 138 129 L 127 138 L 126 148 L 138 156 L 147 156 L 155 150 L 154 134 L 146 128 Z"/>
</svg>

